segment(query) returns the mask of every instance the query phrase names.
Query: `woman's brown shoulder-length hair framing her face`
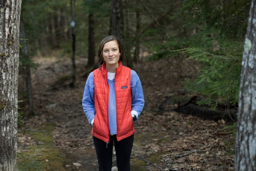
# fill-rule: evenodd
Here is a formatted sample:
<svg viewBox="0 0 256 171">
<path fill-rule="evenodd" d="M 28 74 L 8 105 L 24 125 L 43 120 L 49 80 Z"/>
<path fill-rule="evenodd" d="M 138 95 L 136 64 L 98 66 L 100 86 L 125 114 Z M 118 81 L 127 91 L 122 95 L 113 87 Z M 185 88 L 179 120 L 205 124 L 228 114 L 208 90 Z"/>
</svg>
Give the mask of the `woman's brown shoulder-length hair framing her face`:
<svg viewBox="0 0 256 171">
<path fill-rule="evenodd" d="M 122 46 L 122 43 L 113 35 L 109 35 L 109 36 L 106 36 L 100 43 L 99 45 L 99 50 L 98 50 L 98 60 L 99 60 L 99 65 L 100 67 L 103 65 L 104 63 L 104 58 L 103 58 L 103 55 L 102 55 L 102 51 L 103 51 L 103 48 L 104 48 L 104 45 L 110 41 L 116 41 L 116 43 L 118 44 L 118 48 L 119 48 L 119 52 L 120 52 L 120 57 L 119 57 L 119 61 L 123 61 L 123 58 L 124 58 L 124 50 L 123 50 L 123 46 Z"/>
</svg>

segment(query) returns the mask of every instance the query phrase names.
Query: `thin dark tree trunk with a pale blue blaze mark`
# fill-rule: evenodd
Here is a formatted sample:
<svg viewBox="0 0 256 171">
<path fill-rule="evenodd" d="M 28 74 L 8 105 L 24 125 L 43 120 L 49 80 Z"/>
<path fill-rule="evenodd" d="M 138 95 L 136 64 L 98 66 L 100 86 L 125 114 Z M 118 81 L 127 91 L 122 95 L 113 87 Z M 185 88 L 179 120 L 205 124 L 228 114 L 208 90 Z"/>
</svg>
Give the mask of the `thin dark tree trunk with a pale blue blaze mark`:
<svg viewBox="0 0 256 171">
<path fill-rule="evenodd" d="M 75 87 L 75 0 L 70 0 L 71 6 L 71 35 L 72 35 L 72 82 L 70 87 Z"/>
</svg>

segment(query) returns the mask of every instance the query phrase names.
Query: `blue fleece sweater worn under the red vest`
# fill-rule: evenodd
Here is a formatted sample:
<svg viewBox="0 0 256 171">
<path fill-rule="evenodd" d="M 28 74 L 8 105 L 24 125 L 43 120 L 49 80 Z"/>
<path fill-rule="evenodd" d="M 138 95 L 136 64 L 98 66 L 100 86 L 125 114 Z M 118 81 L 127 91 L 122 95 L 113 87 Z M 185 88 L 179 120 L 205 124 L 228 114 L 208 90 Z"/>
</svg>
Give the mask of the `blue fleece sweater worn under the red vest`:
<svg viewBox="0 0 256 171">
<path fill-rule="evenodd" d="M 116 130 L 116 102 L 115 102 L 115 80 L 108 79 L 109 83 L 109 127 L 110 127 L 110 134 L 117 134 Z M 141 82 L 137 73 L 131 70 L 131 94 L 132 94 L 132 111 L 131 114 L 137 116 L 143 110 L 144 107 L 144 95 L 141 86 Z M 83 109 L 85 115 L 89 121 L 89 124 L 95 117 L 95 107 L 94 107 L 94 79 L 93 79 L 93 72 L 91 72 L 87 78 L 85 89 L 84 89 L 84 96 L 82 101 Z M 136 121 L 137 121 L 136 120 Z"/>
</svg>

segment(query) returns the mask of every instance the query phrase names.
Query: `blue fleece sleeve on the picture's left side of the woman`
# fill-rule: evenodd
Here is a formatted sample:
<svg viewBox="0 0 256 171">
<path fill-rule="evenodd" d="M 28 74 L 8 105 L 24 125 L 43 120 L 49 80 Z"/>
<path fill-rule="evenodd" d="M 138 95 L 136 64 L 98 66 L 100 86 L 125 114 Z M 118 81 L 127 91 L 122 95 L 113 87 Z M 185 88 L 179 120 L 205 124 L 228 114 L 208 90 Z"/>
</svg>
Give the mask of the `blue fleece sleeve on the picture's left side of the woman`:
<svg viewBox="0 0 256 171">
<path fill-rule="evenodd" d="M 82 105 L 84 113 L 90 124 L 95 117 L 93 72 L 89 74 L 86 80 Z"/>
</svg>

